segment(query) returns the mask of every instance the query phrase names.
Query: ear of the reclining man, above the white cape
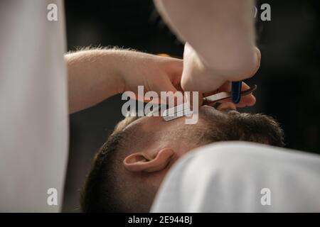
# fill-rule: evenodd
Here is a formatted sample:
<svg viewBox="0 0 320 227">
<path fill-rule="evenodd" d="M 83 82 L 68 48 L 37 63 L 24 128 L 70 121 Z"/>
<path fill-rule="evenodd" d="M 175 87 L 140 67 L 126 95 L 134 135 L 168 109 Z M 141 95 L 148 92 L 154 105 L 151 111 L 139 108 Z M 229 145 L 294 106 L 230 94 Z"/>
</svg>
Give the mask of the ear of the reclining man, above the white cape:
<svg viewBox="0 0 320 227">
<path fill-rule="evenodd" d="M 131 172 L 156 172 L 164 170 L 173 156 L 174 150 L 164 148 L 156 154 L 156 157 L 149 157 L 146 153 L 133 153 L 124 159 L 123 164 Z"/>
</svg>

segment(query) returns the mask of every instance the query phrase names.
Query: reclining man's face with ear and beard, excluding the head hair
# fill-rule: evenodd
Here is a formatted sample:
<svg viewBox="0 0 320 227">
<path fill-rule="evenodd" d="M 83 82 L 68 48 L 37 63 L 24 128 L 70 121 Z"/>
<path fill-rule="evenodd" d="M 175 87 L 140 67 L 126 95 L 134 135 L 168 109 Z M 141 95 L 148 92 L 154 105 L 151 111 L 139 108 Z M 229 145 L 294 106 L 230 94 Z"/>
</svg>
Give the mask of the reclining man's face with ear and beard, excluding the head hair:
<svg viewBox="0 0 320 227">
<path fill-rule="evenodd" d="M 144 184 L 149 198 L 153 198 L 174 162 L 194 148 L 225 140 L 282 146 L 283 137 L 281 128 L 269 116 L 239 113 L 230 103 L 218 109 L 202 106 L 194 125 L 186 124 L 185 117 L 173 121 L 143 117 L 126 129 L 132 138 L 129 154 L 123 157 L 122 176 L 132 182 L 131 188 L 137 182 Z"/>
</svg>

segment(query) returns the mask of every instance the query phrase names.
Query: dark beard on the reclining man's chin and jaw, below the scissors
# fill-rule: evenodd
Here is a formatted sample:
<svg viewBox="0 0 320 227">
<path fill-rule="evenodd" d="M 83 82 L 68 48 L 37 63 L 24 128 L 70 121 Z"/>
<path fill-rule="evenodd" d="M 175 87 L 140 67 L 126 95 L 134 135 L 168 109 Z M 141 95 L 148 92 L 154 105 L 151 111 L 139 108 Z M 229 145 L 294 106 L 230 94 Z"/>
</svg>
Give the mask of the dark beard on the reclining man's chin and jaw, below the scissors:
<svg viewBox="0 0 320 227">
<path fill-rule="evenodd" d="M 211 116 L 205 114 L 207 116 L 203 117 L 205 128 L 202 133 L 202 143 L 240 140 L 284 146 L 282 128 L 271 116 L 236 111 L 218 112 L 210 114 Z"/>
</svg>

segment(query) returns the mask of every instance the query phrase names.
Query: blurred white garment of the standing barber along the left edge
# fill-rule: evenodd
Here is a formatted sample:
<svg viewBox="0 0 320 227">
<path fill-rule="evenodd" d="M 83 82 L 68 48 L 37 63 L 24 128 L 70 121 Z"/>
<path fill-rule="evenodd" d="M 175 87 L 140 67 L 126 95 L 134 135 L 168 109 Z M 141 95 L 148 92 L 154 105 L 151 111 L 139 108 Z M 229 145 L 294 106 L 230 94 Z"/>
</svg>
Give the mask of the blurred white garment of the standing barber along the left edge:
<svg viewBox="0 0 320 227">
<path fill-rule="evenodd" d="M 58 21 L 48 21 L 48 4 Z M 0 1 L 0 211 L 60 211 L 68 158 L 63 1 Z M 58 205 L 54 194 L 58 192 Z"/>
</svg>

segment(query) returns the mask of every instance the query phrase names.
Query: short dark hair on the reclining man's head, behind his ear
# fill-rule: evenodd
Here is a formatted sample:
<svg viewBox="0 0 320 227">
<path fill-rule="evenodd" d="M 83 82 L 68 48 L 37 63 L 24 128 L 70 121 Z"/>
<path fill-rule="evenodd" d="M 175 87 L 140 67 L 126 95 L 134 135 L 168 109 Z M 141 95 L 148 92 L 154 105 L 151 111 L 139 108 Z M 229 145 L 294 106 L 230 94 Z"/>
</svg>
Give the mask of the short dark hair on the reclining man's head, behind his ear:
<svg viewBox="0 0 320 227">
<path fill-rule="evenodd" d="M 123 212 L 119 199 L 115 196 L 114 160 L 121 147 L 126 128 L 137 117 L 127 117 L 120 121 L 113 133 L 95 155 L 85 185 L 80 193 L 80 205 L 84 212 Z M 107 201 L 107 203 L 105 202 Z"/>
</svg>

